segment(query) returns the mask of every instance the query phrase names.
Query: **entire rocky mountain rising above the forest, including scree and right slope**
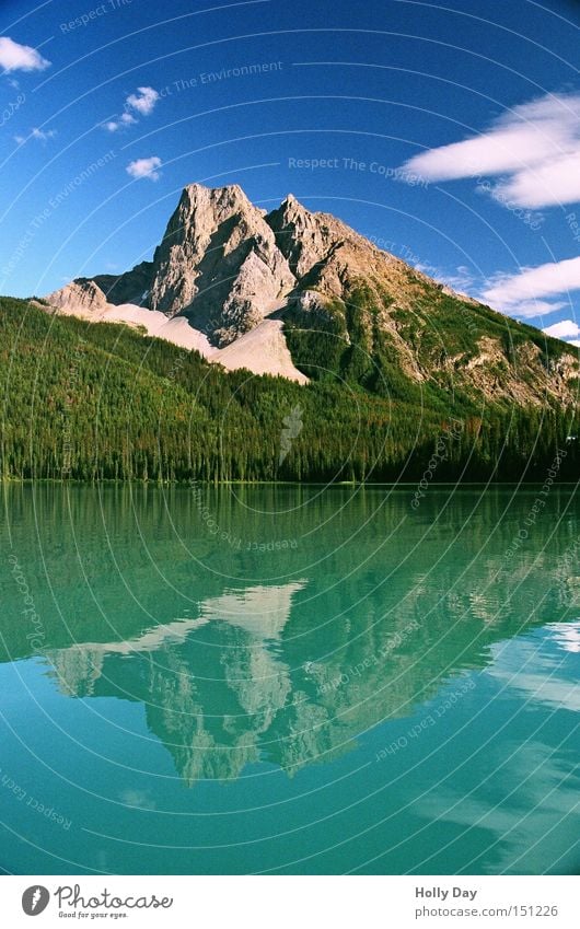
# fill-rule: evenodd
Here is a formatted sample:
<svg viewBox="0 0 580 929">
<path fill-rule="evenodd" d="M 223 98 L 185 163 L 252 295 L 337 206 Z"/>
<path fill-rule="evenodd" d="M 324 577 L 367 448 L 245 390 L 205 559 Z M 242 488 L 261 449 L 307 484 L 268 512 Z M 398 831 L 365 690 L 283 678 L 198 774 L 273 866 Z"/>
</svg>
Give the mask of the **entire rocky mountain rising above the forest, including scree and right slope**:
<svg viewBox="0 0 580 929">
<path fill-rule="evenodd" d="M 57 312 L 144 326 L 228 369 L 541 406 L 571 403 L 577 352 L 454 293 L 291 194 L 184 188 L 152 262 L 78 278 Z"/>
</svg>

